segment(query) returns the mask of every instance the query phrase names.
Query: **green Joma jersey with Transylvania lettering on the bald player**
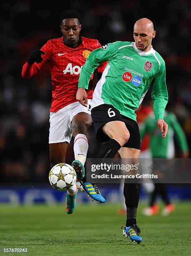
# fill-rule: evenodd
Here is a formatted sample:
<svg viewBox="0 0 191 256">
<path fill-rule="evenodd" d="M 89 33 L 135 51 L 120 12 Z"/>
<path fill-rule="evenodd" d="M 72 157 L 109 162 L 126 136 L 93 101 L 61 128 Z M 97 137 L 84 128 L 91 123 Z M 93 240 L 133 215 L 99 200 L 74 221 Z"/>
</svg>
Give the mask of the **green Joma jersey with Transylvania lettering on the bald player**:
<svg viewBox="0 0 191 256">
<path fill-rule="evenodd" d="M 162 57 L 153 48 L 147 52 L 138 50 L 134 42 L 107 44 L 90 53 L 81 69 L 78 87 L 88 89 L 94 69 L 106 61 L 108 64 L 94 90 L 92 108 L 111 104 L 122 115 L 136 120 L 135 110 L 152 85 L 155 119 L 163 119 L 168 93 Z"/>
</svg>

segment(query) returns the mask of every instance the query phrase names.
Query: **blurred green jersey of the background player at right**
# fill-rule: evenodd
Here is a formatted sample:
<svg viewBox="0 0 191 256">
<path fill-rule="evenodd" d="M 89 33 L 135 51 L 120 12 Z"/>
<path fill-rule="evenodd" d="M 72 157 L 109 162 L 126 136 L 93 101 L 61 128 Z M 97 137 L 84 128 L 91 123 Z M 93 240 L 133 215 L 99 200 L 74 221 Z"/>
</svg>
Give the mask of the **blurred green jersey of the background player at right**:
<svg viewBox="0 0 191 256">
<path fill-rule="evenodd" d="M 150 136 L 149 148 L 153 158 L 173 158 L 175 154 L 174 137 L 181 152 L 184 153 L 188 151 L 188 143 L 186 141 L 185 133 L 178 123 L 176 116 L 171 112 L 165 111 L 164 120 L 168 123 L 168 133 L 166 138 L 162 138 L 161 131 L 154 123 L 153 114 L 146 118 L 143 127 L 140 129 L 141 138 L 143 138 L 146 133 Z"/>
</svg>

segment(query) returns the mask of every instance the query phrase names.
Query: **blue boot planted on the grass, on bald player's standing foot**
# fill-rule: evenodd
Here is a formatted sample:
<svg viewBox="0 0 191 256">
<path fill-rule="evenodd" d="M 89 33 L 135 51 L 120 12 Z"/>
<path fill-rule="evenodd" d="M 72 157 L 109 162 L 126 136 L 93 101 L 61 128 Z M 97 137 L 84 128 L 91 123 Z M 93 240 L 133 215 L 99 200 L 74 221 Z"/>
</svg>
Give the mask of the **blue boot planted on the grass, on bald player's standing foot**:
<svg viewBox="0 0 191 256">
<path fill-rule="evenodd" d="M 123 236 L 131 239 L 131 242 L 141 243 L 143 241 L 142 237 L 139 236 L 141 233 L 140 228 L 137 225 L 132 225 L 130 227 L 125 227 L 123 229 Z"/>
</svg>

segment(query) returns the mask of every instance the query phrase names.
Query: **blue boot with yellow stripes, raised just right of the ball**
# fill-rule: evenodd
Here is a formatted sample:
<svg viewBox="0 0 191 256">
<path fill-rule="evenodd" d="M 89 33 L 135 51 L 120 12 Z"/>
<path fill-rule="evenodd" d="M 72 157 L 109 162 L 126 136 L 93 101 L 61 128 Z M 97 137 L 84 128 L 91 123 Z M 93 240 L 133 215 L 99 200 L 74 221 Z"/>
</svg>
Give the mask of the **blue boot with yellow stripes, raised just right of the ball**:
<svg viewBox="0 0 191 256">
<path fill-rule="evenodd" d="M 80 186 L 79 186 L 79 183 L 80 183 Z M 98 203 L 106 202 L 105 198 L 101 195 L 97 184 L 83 182 L 82 180 L 80 180 L 80 182 L 78 182 L 78 188 L 81 191 L 85 191 L 88 194 L 88 197 L 91 197 L 92 200 L 95 200 Z"/>
</svg>

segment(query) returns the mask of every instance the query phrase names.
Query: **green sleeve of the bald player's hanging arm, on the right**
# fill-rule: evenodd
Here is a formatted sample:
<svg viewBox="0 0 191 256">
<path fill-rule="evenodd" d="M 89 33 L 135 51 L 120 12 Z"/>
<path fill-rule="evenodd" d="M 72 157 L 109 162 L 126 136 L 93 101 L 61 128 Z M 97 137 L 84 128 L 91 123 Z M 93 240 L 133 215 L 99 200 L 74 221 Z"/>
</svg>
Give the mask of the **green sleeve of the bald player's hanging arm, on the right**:
<svg viewBox="0 0 191 256">
<path fill-rule="evenodd" d="M 166 69 L 164 61 L 161 63 L 158 74 L 153 79 L 153 87 L 151 98 L 153 100 L 153 110 L 155 114 L 155 121 L 163 119 L 164 110 L 168 102 L 168 92 L 166 88 Z"/>
</svg>

